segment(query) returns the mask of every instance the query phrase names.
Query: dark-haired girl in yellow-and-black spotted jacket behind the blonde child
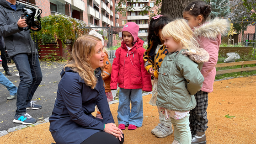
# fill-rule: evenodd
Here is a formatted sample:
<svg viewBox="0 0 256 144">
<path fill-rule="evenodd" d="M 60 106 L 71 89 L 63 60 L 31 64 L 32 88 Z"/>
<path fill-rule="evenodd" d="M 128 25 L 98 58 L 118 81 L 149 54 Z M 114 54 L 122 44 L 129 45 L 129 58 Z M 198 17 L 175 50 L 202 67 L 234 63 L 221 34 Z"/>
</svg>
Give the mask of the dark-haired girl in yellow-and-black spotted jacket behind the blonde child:
<svg viewBox="0 0 256 144">
<path fill-rule="evenodd" d="M 152 106 L 156 106 L 159 69 L 163 59 L 168 54 L 165 45 L 163 45 L 165 41 L 161 38 L 161 33 L 163 27 L 170 21 L 171 19 L 167 16 L 159 15 L 152 17 L 149 23 L 148 48 L 144 53 L 143 59 L 145 62 L 145 69 L 154 77 L 152 98 L 149 101 L 149 104 Z M 155 134 L 158 138 L 165 138 L 172 133 L 171 119 L 165 113 L 165 108 L 157 108 L 160 123 L 151 131 L 151 133 Z"/>
</svg>

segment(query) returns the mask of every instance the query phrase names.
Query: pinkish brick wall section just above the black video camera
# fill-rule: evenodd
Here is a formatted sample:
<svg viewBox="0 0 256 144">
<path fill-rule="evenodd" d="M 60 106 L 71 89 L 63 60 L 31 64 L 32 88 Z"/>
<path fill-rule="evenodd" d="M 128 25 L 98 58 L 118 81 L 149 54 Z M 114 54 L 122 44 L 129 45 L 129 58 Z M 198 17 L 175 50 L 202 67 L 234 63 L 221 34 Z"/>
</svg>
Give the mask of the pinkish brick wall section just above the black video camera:
<svg viewBox="0 0 256 144">
<path fill-rule="evenodd" d="M 42 9 L 42 16 L 49 16 L 51 15 L 50 9 L 50 1 L 49 0 L 30 0 L 30 3 L 34 5 L 38 5 L 40 9 Z M 34 3 L 35 2 L 35 3 Z"/>
</svg>

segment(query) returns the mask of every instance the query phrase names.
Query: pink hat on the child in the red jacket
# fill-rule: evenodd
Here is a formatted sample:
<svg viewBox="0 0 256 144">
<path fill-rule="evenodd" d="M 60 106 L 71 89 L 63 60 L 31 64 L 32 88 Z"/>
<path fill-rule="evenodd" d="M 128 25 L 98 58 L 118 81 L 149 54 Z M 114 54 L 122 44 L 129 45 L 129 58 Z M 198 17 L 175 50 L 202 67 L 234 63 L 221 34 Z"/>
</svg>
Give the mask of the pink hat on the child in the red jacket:
<svg viewBox="0 0 256 144">
<path fill-rule="evenodd" d="M 137 25 L 135 22 L 128 22 L 123 26 L 123 31 L 130 32 L 133 36 L 133 43 L 137 41 L 138 38 L 138 32 L 139 32 L 139 25 Z M 122 37 L 123 37 L 123 31 L 122 31 Z"/>
</svg>

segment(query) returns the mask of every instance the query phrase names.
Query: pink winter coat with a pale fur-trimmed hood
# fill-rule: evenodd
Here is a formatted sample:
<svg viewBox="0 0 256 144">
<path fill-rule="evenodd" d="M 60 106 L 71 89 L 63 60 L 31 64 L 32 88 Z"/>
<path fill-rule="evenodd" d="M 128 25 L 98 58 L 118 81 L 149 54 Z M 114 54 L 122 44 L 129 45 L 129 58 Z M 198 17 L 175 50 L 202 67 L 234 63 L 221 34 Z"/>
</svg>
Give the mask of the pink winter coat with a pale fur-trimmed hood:
<svg viewBox="0 0 256 144">
<path fill-rule="evenodd" d="M 201 40 L 200 44 L 210 55 L 209 61 L 204 62 L 201 70 L 204 77 L 201 91 L 213 92 L 213 82 L 216 75 L 215 65 L 218 61 L 221 34 L 226 34 L 228 27 L 228 20 L 215 18 L 213 21 L 194 28 L 195 35 Z"/>
</svg>

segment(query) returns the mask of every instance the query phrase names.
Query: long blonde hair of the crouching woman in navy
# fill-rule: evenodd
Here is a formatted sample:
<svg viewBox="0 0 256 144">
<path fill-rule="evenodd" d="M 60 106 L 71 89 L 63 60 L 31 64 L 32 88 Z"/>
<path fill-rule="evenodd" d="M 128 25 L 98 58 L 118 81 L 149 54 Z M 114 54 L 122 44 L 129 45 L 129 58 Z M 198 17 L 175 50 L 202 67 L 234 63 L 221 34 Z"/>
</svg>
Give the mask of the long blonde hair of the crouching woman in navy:
<svg viewBox="0 0 256 144">
<path fill-rule="evenodd" d="M 85 80 L 85 84 L 95 88 L 97 78 L 94 70 L 91 68 L 90 58 L 95 54 L 95 46 L 101 39 L 92 35 L 83 35 L 78 37 L 73 45 L 72 54 L 67 61 L 65 67 L 69 67 L 73 71 L 79 73 L 80 77 Z M 101 75 L 103 75 L 103 68 L 101 68 Z"/>
</svg>

